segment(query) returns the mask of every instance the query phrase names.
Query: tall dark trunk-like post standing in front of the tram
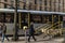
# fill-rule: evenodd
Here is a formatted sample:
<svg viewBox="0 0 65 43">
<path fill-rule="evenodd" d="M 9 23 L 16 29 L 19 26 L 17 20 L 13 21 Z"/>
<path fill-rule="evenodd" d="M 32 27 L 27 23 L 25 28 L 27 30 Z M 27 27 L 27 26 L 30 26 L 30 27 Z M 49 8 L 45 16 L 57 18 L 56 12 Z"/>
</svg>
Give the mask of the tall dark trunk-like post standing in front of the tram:
<svg viewBox="0 0 65 43">
<path fill-rule="evenodd" d="M 14 13 L 14 34 L 13 34 L 13 40 L 17 41 L 17 28 L 16 28 L 16 16 L 17 16 L 17 0 L 15 0 L 15 13 Z"/>
</svg>

